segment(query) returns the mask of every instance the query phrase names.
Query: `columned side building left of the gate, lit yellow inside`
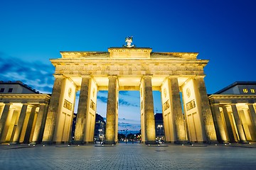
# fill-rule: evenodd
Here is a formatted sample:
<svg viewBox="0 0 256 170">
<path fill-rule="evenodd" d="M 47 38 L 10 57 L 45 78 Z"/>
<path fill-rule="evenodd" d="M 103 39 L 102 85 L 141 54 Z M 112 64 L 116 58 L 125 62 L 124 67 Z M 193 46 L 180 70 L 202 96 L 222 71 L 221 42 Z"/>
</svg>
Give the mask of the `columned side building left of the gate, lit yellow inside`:
<svg viewBox="0 0 256 170">
<path fill-rule="evenodd" d="M 49 101 L 21 81 L 0 81 L 0 142 L 40 143 Z"/>
</svg>

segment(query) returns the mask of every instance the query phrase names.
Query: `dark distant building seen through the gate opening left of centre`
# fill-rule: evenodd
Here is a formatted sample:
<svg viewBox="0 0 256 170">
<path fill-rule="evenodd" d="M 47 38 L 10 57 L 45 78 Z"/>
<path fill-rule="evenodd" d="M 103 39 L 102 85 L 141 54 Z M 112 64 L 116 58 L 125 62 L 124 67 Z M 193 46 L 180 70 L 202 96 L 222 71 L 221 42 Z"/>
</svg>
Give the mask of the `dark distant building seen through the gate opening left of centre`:
<svg viewBox="0 0 256 170">
<path fill-rule="evenodd" d="M 95 140 L 103 141 L 105 139 L 106 122 L 101 115 L 96 113 L 95 119 Z"/>
</svg>

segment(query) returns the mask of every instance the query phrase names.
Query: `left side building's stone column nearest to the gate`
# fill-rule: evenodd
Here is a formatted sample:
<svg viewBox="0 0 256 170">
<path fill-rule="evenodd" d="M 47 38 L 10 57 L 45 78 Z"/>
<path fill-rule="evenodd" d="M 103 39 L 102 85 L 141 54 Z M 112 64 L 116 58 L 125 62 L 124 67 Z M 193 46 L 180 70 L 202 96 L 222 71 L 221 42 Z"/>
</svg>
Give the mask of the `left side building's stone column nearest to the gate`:
<svg viewBox="0 0 256 170">
<path fill-rule="evenodd" d="M 36 126 L 33 132 L 33 139 L 32 139 L 33 144 L 37 144 L 39 142 L 38 140 L 39 140 L 39 135 L 42 128 L 43 115 L 45 113 L 45 110 L 46 110 L 46 103 L 40 103 L 38 116 L 36 118 Z"/>
</svg>

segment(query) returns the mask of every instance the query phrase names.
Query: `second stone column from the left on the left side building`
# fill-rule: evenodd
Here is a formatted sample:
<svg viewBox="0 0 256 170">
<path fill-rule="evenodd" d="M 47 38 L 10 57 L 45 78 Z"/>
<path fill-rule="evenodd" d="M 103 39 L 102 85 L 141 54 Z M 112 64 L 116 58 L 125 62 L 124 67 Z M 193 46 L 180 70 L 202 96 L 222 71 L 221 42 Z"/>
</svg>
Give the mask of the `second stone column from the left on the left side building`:
<svg viewBox="0 0 256 170">
<path fill-rule="evenodd" d="M 23 103 L 21 108 L 21 113 L 18 118 L 18 125 L 16 127 L 15 134 L 14 134 L 14 140 L 13 140 L 14 143 L 19 143 L 19 138 L 21 137 L 21 130 L 23 128 L 23 123 L 26 117 L 27 108 L 28 108 L 28 103 Z"/>
</svg>

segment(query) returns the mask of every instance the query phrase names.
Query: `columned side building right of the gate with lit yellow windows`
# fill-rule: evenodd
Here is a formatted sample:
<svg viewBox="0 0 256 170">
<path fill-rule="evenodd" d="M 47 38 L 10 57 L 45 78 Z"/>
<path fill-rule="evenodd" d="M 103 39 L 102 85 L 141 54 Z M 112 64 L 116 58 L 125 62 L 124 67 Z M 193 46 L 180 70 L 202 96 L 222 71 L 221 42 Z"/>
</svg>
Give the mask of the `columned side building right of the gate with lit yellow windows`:
<svg viewBox="0 0 256 170">
<path fill-rule="evenodd" d="M 218 142 L 256 141 L 256 81 L 237 81 L 209 100 Z"/>
</svg>

